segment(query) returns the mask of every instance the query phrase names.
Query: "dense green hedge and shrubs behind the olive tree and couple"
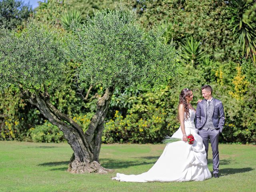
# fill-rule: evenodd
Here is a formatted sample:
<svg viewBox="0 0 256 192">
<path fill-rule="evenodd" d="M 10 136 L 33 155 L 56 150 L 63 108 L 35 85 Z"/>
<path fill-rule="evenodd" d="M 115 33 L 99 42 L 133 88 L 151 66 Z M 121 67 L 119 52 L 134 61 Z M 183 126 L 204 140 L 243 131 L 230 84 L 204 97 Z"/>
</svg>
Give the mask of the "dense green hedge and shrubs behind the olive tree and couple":
<svg viewBox="0 0 256 192">
<path fill-rule="evenodd" d="M 0 7 L 11 5 L 11 0 L 1 0 Z M 18 2 L 18 1 L 16 1 Z M 153 26 L 166 29 L 164 42 L 176 43 L 181 50 L 180 77 L 173 84 L 166 80 L 157 92 L 136 88 L 116 89 L 110 104 L 102 141 L 105 143 L 157 143 L 166 134 L 174 133 L 178 95 L 182 88 L 194 92 L 193 106 L 202 98 L 201 86 L 210 84 L 213 96 L 224 104 L 226 121 L 221 142 L 256 143 L 256 2 L 213 0 L 123 0 L 134 10 L 138 23 L 144 30 Z M 13 5 L 13 4 L 12 4 Z M 27 14 L 19 13 L 21 21 Z M 86 16 L 104 8 L 114 9 L 111 0 L 48 0 L 40 2 L 34 20 L 57 27 L 63 42 L 70 35 L 72 18 L 83 22 Z M 94 10 L 93 10 L 94 9 Z M 1 9 L 1 11 L 4 9 Z M 77 10 L 77 12 L 74 12 Z M 3 17 L 4 16 L 4 17 Z M 1 14 L 4 28 L 17 27 L 17 36 L 24 23 L 8 20 Z M 4 21 L 4 22 L 3 22 Z M 150 25 L 150 27 L 148 27 Z M 52 102 L 62 112 L 70 115 L 86 130 L 96 104 L 84 104 L 77 87 L 75 69 L 79 65 L 67 61 L 66 78 L 59 89 L 52 90 Z M 87 88 L 88 89 L 88 88 Z M 103 94 L 104 88 L 96 86 L 91 94 Z M 62 133 L 50 125 L 40 112 L 22 100 L 18 88 L 7 86 L 0 93 L 0 139 L 37 142 L 64 141 Z M 49 136 L 51 135 L 51 136 Z M 53 136 L 53 137 L 52 137 Z"/>
</svg>

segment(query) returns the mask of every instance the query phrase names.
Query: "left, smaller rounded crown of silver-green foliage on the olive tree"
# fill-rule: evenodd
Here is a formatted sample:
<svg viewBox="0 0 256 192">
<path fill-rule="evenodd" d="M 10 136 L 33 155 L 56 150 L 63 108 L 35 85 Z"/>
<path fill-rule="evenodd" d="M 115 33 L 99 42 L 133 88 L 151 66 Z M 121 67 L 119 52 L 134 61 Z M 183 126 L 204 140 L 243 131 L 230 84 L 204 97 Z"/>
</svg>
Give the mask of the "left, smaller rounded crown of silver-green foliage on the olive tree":
<svg viewBox="0 0 256 192">
<path fill-rule="evenodd" d="M 23 90 L 40 91 L 43 85 L 55 88 L 64 72 L 64 49 L 58 33 L 36 22 L 26 29 L 0 30 L 0 86 L 21 86 Z"/>
</svg>

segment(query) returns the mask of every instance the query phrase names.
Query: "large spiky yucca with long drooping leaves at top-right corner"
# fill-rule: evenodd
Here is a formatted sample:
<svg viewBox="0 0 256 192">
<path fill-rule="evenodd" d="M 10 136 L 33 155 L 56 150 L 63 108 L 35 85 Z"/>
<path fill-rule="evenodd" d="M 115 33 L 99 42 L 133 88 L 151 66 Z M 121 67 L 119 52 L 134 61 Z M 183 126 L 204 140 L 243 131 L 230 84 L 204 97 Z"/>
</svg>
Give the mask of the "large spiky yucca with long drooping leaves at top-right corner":
<svg viewBox="0 0 256 192">
<path fill-rule="evenodd" d="M 234 38 L 242 46 L 242 55 L 252 58 L 256 64 L 256 2 L 231 0 L 228 7 L 230 28 Z"/>
</svg>

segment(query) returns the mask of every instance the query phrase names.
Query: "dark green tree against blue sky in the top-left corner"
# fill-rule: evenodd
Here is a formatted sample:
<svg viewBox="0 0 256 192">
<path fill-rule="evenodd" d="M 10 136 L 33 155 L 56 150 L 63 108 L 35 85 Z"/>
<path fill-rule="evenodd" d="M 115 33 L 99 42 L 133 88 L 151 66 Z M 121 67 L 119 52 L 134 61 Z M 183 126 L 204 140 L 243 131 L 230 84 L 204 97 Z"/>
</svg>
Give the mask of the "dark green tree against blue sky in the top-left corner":
<svg viewBox="0 0 256 192">
<path fill-rule="evenodd" d="M 32 14 L 32 7 L 21 0 L 0 0 L 0 26 L 11 29 L 22 25 Z"/>
</svg>

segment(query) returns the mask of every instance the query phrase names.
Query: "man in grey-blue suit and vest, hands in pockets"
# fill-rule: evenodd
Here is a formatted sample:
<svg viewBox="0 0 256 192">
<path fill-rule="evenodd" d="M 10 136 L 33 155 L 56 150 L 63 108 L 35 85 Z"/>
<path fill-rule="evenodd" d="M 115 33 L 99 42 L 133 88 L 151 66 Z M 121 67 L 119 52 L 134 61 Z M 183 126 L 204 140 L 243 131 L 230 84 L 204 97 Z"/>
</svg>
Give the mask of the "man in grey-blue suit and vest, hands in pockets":
<svg viewBox="0 0 256 192">
<path fill-rule="evenodd" d="M 212 97 L 212 87 L 202 87 L 204 100 L 198 102 L 196 107 L 196 128 L 202 137 L 208 158 L 209 139 L 212 146 L 213 176 L 218 178 L 219 172 L 219 135 L 225 122 L 225 115 L 222 102 Z"/>
</svg>

